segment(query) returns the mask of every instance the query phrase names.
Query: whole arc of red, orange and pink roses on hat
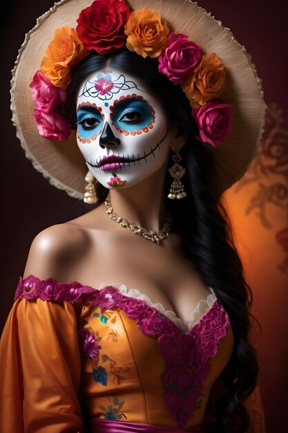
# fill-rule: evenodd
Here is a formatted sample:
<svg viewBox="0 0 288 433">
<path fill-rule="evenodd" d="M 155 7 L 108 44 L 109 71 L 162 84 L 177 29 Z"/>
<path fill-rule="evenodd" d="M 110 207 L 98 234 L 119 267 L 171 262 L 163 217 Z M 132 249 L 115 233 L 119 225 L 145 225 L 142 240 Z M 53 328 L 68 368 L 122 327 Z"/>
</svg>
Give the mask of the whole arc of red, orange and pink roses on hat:
<svg viewBox="0 0 288 433">
<path fill-rule="evenodd" d="M 146 8 L 131 12 L 122 0 L 93 1 L 81 10 L 77 23 L 76 30 L 66 26 L 55 31 L 30 84 L 36 105 L 34 118 L 41 136 L 64 140 L 70 135 L 61 107 L 71 81 L 71 66 L 90 50 L 106 55 L 115 53 L 126 42 L 128 50 L 144 58 L 157 58 L 160 73 L 182 86 L 198 125 L 198 140 L 216 147 L 227 139 L 232 107 L 217 99 L 224 90 L 226 74 L 215 53 L 204 54 L 182 33 L 169 34 L 169 27 L 158 12 Z"/>
</svg>

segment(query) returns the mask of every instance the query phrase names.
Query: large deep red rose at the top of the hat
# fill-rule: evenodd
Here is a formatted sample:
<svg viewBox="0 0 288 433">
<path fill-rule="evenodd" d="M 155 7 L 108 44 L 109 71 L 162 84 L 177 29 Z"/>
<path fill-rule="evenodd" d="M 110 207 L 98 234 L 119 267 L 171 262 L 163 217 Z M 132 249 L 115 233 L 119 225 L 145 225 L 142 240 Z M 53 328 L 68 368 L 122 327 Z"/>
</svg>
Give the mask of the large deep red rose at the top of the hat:
<svg viewBox="0 0 288 433">
<path fill-rule="evenodd" d="M 87 50 L 99 54 L 115 53 L 124 45 L 124 25 L 130 9 L 121 0 L 95 0 L 81 10 L 76 28 Z"/>
</svg>

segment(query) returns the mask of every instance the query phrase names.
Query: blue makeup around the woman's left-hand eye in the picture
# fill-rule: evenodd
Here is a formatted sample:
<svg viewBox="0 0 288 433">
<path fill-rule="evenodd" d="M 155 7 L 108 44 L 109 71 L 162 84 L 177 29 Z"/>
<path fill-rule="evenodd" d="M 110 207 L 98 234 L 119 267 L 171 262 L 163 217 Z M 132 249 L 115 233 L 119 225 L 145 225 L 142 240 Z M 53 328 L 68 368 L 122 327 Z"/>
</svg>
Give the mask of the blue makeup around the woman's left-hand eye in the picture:
<svg viewBox="0 0 288 433">
<path fill-rule="evenodd" d="M 77 111 L 77 124 L 79 136 L 90 138 L 102 128 L 103 119 L 101 113 L 90 106 L 83 106 Z"/>
</svg>

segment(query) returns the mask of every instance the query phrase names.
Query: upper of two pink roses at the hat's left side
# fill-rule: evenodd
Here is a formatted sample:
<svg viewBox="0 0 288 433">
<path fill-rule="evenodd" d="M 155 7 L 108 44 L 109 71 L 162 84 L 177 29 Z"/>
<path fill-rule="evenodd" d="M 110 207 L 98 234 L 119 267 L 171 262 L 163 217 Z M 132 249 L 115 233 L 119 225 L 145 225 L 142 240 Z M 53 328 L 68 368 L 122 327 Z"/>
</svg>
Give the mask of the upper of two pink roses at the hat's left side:
<svg viewBox="0 0 288 433">
<path fill-rule="evenodd" d="M 53 86 L 41 71 L 35 73 L 30 89 L 37 108 L 51 111 L 66 101 L 66 90 Z"/>
</svg>

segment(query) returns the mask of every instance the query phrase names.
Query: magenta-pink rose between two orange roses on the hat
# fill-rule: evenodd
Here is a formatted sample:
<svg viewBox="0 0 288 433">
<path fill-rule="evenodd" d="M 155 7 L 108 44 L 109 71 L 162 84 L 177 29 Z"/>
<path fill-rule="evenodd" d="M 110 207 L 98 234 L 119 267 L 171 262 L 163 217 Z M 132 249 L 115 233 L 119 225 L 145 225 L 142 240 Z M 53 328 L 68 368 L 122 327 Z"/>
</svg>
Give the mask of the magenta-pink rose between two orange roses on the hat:
<svg viewBox="0 0 288 433">
<path fill-rule="evenodd" d="M 167 75 L 173 84 L 182 84 L 202 59 L 203 52 L 188 36 L 182 33 L 171 33 L 168 45 L 162 51 L 159 60 L 159 71 Z"/>
</svg>

